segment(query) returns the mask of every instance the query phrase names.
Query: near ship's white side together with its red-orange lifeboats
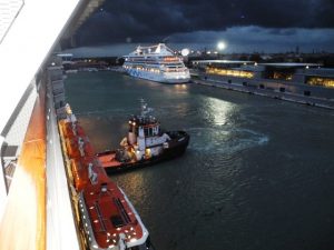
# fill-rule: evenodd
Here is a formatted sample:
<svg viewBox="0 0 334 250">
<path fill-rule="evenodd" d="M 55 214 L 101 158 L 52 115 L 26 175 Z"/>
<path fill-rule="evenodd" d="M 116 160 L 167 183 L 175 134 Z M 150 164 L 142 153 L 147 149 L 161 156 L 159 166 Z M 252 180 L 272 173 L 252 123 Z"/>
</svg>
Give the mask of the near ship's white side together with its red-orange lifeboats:
<svg viewBox="0 0 334 250">
<path fill-rule="evenodd" d="M 66 117 L 55 51 L 102 1 L 0 1 L 0 249 L 151 248 L 139 214 Z"/>
</svg>

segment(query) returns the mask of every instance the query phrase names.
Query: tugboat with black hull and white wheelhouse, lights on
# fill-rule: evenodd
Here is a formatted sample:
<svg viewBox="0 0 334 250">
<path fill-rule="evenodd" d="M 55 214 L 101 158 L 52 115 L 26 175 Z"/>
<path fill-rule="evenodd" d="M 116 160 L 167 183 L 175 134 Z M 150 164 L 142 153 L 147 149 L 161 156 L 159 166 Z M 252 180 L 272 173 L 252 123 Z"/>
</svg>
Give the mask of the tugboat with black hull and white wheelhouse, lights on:
<svg viewBox="0 0 334 250">
<path fill-rule="evenodd" d="M 107 172 L 158 163 L 181 156 L 189 143 L 185 131 L 163 131 L 153 109 L 141 99 L 141 113 L 129 119 L 129 131 L 117 150 L 97 154 Z"/>
</svg>

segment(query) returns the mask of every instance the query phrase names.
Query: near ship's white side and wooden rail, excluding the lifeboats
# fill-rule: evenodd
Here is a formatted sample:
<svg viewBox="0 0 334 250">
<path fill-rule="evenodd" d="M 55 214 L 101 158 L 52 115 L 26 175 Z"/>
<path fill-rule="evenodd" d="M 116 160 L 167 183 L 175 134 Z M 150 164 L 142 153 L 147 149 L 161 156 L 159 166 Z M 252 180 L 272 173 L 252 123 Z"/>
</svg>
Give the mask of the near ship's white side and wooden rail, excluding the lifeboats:
<svg viewBox="0 0 334 250">
<path fill-rule="evenodd" d="M 51 54 L 102 1 L 0 0 L 0 249 L 81 249 L 55 111 L 62 70 Z"/>
</svg>

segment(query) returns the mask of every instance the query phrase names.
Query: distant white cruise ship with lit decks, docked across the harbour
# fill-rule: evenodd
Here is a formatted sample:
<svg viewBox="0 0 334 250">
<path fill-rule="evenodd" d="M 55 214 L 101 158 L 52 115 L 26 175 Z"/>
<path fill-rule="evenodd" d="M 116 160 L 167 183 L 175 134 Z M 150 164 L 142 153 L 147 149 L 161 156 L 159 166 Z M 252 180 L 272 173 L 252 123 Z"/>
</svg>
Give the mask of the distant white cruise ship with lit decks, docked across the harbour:
<svg viewBox="0 0 334 250">
<path fill-rule="evenodd" d="M 183 59 L 164 43 L 141 47 L 124 56 L 124 68 L 132 77 L 164 83 L 185 83 L 190 79 Z"/>
</svg>

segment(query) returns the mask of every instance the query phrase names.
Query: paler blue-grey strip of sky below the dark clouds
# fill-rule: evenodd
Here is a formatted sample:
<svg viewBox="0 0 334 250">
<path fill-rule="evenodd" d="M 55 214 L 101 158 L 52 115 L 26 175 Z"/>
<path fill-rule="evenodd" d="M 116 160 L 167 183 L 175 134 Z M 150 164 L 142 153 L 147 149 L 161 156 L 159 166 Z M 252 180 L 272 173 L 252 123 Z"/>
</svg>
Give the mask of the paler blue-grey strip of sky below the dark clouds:
<svg viewBox="0 0 334 250">
<path fill-rule="evenodd" d="M 334 29 L 233 27 L 224 31 L 191 31 L 170 36 L 168 46 L 175 50 L 217 50 L 217 41 L 225 41 L 225 52 L 286 52 L 296 47 L 302 52 L 334 52 Z M 146 46 L 148 43 L 140 43 Z M 80 47 L 65 52 L 75 57 L 119 57 L 135 50 L 137 43 L 108 43 Z"/>
</svg>

